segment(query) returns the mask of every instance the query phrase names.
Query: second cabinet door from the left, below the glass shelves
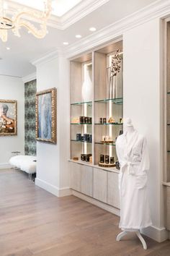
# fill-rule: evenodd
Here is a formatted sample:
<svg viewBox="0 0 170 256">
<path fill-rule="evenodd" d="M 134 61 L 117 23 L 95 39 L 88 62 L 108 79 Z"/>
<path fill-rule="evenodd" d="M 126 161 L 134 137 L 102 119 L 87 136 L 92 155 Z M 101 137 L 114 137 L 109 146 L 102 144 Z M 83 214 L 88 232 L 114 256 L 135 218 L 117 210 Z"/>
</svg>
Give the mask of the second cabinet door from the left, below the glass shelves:
<svg viewBox="0 0 170 256">
<path fill-rule="evenodd" d="M 90 166 L 81 166 L 81 192 L 93 195 L 93 168 Z"/>
</svg>

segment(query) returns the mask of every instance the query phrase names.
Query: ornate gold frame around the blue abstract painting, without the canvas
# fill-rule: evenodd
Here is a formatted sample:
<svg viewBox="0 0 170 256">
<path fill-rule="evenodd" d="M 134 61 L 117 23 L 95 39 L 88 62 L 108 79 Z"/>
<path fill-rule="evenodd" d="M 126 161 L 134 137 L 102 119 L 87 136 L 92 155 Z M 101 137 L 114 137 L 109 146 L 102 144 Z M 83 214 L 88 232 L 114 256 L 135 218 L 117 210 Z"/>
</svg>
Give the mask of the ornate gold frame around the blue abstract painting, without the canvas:
<svg viewBox="0 0 170 256">
<path fill-rule="evenodd" d="M 51 106 L 52 106 L 52 134 L 50 140 L 45 140 L 38 137 L 38 96 L 46 93 L 51 93 Z M 57 142 L 57 90 L 51 88 L 48 90 L 42 90 L 39 93 L 36 93 L 36 139 L 40 142 L 48 142 L 56 144 Z"/>
</svg>

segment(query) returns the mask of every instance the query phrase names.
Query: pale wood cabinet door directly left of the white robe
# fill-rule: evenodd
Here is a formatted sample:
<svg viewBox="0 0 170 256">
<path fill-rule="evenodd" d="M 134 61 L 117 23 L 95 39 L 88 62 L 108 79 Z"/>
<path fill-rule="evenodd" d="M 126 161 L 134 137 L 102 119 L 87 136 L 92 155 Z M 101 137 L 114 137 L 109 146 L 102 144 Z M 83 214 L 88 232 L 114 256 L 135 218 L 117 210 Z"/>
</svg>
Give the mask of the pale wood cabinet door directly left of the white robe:
<svg viewBox="0 0 170 256">
<path fill-rule="evenodd" d="M 109 172 L 107 174 L 107 203 L 116 208 L 120 208 L 120 192 L 118 186 L 118 176 L 114 172 Z"/>
</svg>

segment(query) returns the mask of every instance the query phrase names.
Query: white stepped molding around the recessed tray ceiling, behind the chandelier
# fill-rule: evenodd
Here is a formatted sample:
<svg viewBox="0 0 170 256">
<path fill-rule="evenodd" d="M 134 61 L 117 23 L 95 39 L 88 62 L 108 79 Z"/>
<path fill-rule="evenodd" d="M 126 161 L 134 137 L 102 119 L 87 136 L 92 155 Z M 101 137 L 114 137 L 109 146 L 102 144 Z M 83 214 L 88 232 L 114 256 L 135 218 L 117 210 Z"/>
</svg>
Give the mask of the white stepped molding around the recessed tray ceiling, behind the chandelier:
<svg viewBox="0 0 170 256">
<path fill-rule="evenodd" d="M 65 30 L 67 27 L 70 27 L 74 23 L 81 20 L 86 15 L 93 12 L 95 9 L 101 7 L 103 4 L 106 4 L 109 0 L 86 0 L 81 1 L 79 4 L 77 4 L 75 7 L 73 7 L 71 10 L 66 12 L 66 14 L 63 14 L 63 16 L 58 17 L 54 14 L 51 14 L 47 25 L 49 27 L 57 28 L 58 30 Z M 6 14 L 13 15 L 15 12 L 20 11 L 22 9 L 28 9 L 30 11 L 35 11 L 32 7 L 27 7 L 23 4 L 19 4 L 17 2 L 8 1 L 8 9 L 6 10 Z M 36 12 L 40 12 L 36 9 Z M 41 14 L 41 12 L 40 12 Z M 38 20 L 25 17 L 27 20 L 32 20 L 37 23 L 40 23 Z"/>
</svg>

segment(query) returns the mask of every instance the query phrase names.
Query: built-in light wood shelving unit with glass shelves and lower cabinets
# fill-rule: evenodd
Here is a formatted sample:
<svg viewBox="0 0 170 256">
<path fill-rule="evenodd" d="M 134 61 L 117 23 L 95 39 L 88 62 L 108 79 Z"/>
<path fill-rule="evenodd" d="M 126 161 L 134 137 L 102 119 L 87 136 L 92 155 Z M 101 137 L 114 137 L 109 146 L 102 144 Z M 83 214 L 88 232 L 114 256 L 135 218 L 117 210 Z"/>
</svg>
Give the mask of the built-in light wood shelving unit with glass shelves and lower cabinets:
<svg viewBox="0 0 170 256">
<path fill-rule="evenodd" d="M 116 93 L 110 97 L 108 70 L 117 49 L 120 50 L 121 69 L 116 77 Z M 122 132 L 123 117 L 122 60 L 122 40 L 117 40 L 71 59 L 70 68 L 71 188 L 115 208 L 120 208 L 119 170 L 101 167 L 99 161 L 100 155 L 109 155 L 117 161 L 115 141 Z M 87 135 L 91 135 L 90 142 L 86 140 Z M 104 137 L 111 142 L 104 142 Z M 81 161 L 81 154 L 92 155 L 91 163 Z M 79 158 L 79 161 L 73 161 L 73 158 Z"/>
</svg>

